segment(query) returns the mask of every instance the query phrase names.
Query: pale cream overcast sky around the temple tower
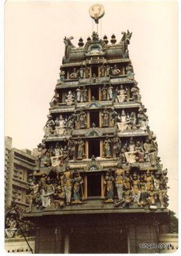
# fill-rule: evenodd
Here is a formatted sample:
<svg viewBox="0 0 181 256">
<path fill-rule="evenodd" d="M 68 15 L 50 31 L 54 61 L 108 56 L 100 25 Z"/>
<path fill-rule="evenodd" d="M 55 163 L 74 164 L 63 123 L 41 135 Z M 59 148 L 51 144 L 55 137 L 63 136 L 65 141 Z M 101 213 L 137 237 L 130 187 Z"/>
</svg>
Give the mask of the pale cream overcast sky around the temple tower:
<svg viewBox="0 0 181 256">
<path fill-rule="evenodd" d="M 32 150 L 42 141 L 49 102 L 65 51 L 63 38 L 84 42 L 89 8 L 104 6 L 99 35 L 132 32 L 129 57 L 159 156 L 168 168 L 169 209 L 178 212 L 178 13 L 176 1 L 6 1 L 4 9 L 5 136 Z M 95 28 L 95 26 L 94 26 Z M 101 36 L 101 35 L 100 35 Z"/>
</svg>

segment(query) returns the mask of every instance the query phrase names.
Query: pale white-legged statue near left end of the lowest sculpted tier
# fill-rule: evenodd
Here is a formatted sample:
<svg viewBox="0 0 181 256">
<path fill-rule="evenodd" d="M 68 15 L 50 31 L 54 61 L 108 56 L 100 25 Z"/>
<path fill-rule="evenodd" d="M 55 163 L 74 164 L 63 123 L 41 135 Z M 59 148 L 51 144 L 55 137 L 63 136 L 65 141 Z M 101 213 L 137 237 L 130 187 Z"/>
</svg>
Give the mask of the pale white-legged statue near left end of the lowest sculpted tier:
<svg viewBox="0 0 181 256">
<path fill-rule="evenodd" d="M 53 204 L 54 185 L 51 182 L 50 177 L 47 178 L 45 183 L 45 189 L 42 193 L 42 206 L 47 207 Z"/>
</svg>

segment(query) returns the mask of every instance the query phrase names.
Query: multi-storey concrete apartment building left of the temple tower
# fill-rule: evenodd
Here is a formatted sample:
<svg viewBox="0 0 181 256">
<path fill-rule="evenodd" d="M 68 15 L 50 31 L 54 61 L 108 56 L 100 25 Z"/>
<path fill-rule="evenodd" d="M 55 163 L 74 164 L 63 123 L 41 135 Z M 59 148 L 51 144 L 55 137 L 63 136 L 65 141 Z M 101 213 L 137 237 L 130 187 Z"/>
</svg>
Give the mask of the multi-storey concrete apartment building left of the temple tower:
<svg viewBox="0 0 181 256">
<path fill-rule="evenodd" d="M 4 160 L 4 199 L 5 206 L 15 200 L 20 206 L 26 207 L 29 175 L 33 173 L 35 160 L 31 150 L 12 148 L 12 138 L 5 137 Z"/>
</svg>

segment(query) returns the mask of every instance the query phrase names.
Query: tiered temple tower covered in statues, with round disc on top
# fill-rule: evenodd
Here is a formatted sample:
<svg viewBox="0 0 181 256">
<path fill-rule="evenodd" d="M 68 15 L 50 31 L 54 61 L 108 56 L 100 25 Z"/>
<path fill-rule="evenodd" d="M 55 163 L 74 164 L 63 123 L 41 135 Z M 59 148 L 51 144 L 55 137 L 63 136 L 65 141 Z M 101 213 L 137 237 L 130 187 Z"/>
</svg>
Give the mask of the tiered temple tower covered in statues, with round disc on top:
<svg viewBox="0 0 181 256">
<path fill-rule="evenodd" d="M 103 6 L 90 15 L 98 24 Z M 77 47 L 64 38 L 24 213 L 35 253 L 153 253 L 140 244 L 169 232 L 167 169 L 134 79 L 131 36 L 93 31 Z"/>
</svg>

